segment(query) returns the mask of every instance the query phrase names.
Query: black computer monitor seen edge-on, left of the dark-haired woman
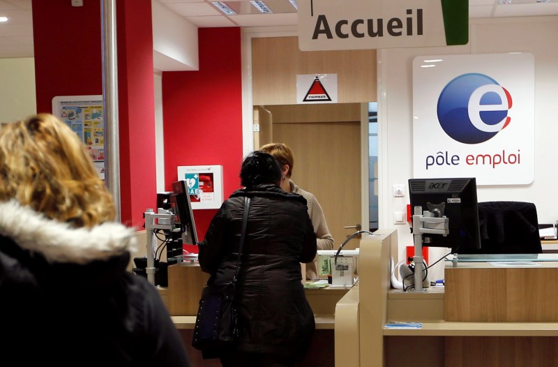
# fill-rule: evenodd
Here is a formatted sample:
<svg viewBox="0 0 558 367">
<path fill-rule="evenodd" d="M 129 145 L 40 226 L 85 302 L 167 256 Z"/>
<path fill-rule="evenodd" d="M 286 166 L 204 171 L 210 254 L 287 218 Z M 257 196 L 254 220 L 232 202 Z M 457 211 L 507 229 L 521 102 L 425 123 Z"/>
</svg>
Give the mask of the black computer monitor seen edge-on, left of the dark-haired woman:
<svg viewBox="0 0 558 367">
<path fill-rule="evenodd" d="M 196 225 L 186 180 L 172 183 L 170 206 L 175 215 L 174 222 L 181 225 L 183 244 L 197 245 Z"/>
</svg>

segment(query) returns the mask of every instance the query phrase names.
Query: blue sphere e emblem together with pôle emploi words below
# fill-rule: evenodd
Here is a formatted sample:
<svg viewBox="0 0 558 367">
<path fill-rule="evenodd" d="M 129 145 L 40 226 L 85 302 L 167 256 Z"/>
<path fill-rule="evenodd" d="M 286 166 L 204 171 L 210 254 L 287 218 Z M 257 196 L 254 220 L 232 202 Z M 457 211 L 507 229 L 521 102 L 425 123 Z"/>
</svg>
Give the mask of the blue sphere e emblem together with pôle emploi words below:
<svg viewBox="0 0 558 367">
<path fill-rule="evenodd" d="M 444 132 L 463 144 L 479 144 L 490 140 L 511 121 L 508 112 L 512 98 L 508 90 L 488 75 L 468 73 L 455 77 L 440 93 L 438 121 Z M 427 156 L 426 169 L 431 165 L 458 165 L 459 156 L 439 151 Z M 467 165 L 519 164 L 520 151 L 502 154 L 467 154 Z"/>
</svg>

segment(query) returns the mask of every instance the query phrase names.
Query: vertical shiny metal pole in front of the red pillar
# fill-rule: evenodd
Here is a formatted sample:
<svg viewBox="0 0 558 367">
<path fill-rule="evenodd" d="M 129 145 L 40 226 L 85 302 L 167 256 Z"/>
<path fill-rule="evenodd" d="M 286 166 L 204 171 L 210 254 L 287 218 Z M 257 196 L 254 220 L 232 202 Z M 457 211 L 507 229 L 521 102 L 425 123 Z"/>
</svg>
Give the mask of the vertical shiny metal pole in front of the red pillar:
<svg viewBox="0 0 558 367">
<path fill-rule="evenodd" d="M 120 149 L 118 65 L 116 62 L 116 0 L 100 0 L 103 33 L 103 114 L 105 117 L 105 185 L 114 197 L 120 221 Z"/>
</svg>

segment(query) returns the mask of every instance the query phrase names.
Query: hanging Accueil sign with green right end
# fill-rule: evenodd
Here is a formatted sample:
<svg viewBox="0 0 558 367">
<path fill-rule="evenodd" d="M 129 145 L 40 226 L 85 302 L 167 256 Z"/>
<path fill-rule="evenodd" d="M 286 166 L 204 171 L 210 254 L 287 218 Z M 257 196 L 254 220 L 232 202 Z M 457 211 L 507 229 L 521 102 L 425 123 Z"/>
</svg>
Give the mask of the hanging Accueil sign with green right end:
<svg viewBox="0 0 558 367">
<path fill-rule="evenodd" d="M 298 4 L 302 51 L 469 42 L 468 0 L 299 0 Z"/>
</svg>

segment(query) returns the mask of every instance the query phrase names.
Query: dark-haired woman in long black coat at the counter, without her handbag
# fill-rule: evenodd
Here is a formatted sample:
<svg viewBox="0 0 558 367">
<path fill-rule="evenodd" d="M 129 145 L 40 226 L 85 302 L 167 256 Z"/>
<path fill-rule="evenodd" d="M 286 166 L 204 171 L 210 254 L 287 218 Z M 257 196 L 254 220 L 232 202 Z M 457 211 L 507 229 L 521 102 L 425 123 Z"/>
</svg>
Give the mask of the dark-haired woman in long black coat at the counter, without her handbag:
<svg viewBox="0 0 558 367">
<path fill-rule="evenodd" d="M 199 246 L 199 264 L 213 281 L 232 278 L 244 197 L 250 197 L 236 283 L 239 342 L 220 359 L 223 366 L 294 366 L 308 350 L 315 330 L 301 283 L 300 263 L 316 255 L 306 200 L 279 188 L 280 167 L 268 153 L 247 156 L 240 177 L 245 188 L 223 202 Z"/>
</svg>

